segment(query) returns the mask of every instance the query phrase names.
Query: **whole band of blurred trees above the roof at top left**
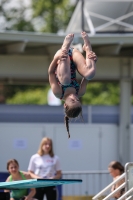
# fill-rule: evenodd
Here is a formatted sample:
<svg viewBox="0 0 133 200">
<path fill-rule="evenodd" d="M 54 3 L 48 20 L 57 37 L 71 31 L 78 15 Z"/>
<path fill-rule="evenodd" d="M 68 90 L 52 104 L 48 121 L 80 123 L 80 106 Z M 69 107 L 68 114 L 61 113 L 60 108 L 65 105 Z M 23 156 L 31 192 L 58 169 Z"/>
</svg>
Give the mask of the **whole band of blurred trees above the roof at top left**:
<svg viewBox="0 0 133 200">
<path fill-rule="evenodd" d="M 31 4 L 27 8 L 23 0 L 19 0 L 17 4 L 13 0 L 1 0 L 0 29 L 35 31 L 37 26 L 39 31 L 57 33 L 66 29 L 76 6 L 71 0 L 31 0 Z M 33 13 L 30 18 L 27 17 L 28 10 Z M 36 19 L 40 19 L 37 24 Z"/>
</svg>

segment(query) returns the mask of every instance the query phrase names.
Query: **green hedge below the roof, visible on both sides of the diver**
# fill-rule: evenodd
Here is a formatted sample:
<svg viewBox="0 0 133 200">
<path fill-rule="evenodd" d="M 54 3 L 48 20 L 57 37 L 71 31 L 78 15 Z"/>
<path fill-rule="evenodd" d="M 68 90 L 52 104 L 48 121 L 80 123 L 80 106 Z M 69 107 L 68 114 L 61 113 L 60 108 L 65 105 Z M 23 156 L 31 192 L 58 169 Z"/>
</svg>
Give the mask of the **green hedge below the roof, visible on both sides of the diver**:
<svg viewBox="0 0 133 200">
<path fill-rule="evenodd" d="M 47 93 L 49 84 L 43 87 L 38 86 L 13 86 L 10 91 L 13 96 L 8 95 L 7 104 L 47 104 Z M 89 83 L 86 94 L 82 97 L 83 105 L 118 105 L 119 104 L 119 84 L 118 83 Z"/>
</svg>

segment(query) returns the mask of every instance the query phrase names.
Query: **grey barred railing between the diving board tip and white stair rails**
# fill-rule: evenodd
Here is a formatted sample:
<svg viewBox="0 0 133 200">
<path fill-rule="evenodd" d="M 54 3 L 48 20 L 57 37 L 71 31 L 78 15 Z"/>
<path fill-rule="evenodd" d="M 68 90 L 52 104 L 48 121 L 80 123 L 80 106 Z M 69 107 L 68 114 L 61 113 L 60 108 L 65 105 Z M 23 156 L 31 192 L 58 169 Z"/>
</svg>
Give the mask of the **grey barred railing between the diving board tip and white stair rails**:
<svg viewBox="0 0 133 200">
<path fill-rule="evenodd" d="M 64 179 L 82 179 L 82 184 L 63 185 L 63 196 L 94 196 L 111 182 L 108 171 L 63 171 Z"/>
</svg>

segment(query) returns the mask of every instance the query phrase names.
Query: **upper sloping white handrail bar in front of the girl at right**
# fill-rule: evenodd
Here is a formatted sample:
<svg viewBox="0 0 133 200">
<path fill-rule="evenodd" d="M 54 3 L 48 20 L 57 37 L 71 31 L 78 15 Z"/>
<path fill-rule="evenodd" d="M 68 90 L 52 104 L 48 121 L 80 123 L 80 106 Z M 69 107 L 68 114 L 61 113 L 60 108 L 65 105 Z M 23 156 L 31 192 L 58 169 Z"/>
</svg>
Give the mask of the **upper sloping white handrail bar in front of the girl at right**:
<svg viewBox="0 0 133 200">
<path fill-rule="evenodd" d="M 123 173 L 118 179 L 116 179 L 115 181 L 113 181 L 112 183 L 110 183 L 107 187 L 105 187 L 101 192 L 99 192 L 97 195 L 95 195 L 92 199 L 93 200 L 96 200 L 96 199 L 98 199 L 99 197 L 101 197 L 102 195 L 104 195 L 104 193 L 108 190 L 108 189 L 110 189 L 111 188 L 111 186 L 113 186 L 115 183 L 117 183 L 118 181 L 120 181 L 122 178 L 124 178 L 125 177 L 125 173 Z M 119 186 L 119 187 L 121 187 L 121 186 Z M 118 192 L 120 189 L 119 189 L 119 187 L 117 188 L 117 190 L 115 190 L 115 191 L 113 191 L 112 193 L 116 193 L 116 192 Z M 111 193 L 111 194 L 112 194 Z M 112 195 L 111 195 L 112 196 Z"/>
</svg>

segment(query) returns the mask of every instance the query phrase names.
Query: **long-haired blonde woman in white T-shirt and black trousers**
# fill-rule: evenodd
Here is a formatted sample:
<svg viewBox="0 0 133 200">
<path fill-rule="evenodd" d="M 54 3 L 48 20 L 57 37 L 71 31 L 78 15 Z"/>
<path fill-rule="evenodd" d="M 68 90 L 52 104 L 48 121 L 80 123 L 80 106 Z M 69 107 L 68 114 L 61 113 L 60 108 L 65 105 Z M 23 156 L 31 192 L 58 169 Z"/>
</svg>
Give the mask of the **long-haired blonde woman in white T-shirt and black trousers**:
<svg viewBox="0 0 133 200">
<path fill-rule="evenodd" d="M 38 152 L 34 154 L 29 162 L 28 171 L 32 178 L 60 179 L 61 168 L 59 157 L 54 155 L 52 140 L 44 137 L 40 143 Z M 57 200 L 57 189 L 55 186 L 36 188 L 35 198 L 43 200 Z"/>
</svg>

